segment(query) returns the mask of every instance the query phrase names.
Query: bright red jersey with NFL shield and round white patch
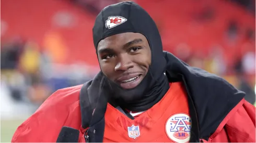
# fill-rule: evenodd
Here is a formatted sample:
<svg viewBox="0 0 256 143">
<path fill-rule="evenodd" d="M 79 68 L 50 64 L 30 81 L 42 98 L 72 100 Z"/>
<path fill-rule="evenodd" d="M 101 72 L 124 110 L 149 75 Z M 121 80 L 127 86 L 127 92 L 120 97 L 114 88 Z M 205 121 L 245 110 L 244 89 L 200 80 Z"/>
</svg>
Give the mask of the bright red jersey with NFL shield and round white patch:
<svg viewBox="0 0 256 143">
<path fill-rule="evenodd" d="M 184 91 L 181 83 L 170 84 L 166 95 L 134 120 L 108 105 L 103 142 L 189 141 L 191 120 Z"/>
</svg>

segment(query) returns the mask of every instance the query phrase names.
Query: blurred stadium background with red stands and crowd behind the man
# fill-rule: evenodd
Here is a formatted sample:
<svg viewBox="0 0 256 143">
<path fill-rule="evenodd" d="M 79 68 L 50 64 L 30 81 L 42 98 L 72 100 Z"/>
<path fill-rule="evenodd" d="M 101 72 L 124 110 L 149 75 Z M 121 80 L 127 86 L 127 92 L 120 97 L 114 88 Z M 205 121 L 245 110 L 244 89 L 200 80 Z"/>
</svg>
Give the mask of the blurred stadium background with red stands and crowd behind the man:
<svg viewBox="0 0 256 143">
<path fill-rule="evenodd" d="M 92 27 L 118 0 L 1 1 L 1 142 L 57 89 L 98 71 Z M 255 102 L 255 0 L 137 0 L 164 50 L 224 77 Z"/>
</svg>

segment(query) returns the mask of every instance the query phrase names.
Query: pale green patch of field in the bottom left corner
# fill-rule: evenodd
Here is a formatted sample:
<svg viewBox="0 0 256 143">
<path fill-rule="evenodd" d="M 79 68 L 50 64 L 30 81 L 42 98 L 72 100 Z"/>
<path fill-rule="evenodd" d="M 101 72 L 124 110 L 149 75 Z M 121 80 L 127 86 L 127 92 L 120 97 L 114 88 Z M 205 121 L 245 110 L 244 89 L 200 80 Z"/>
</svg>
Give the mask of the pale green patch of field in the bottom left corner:
<svg viewBox="0 0 256 143">
<path fill-rule="evenodd" d="M 17 127 L 25 120 L 1 120 L 1 141 L 10 142 Z"/>
</svg>

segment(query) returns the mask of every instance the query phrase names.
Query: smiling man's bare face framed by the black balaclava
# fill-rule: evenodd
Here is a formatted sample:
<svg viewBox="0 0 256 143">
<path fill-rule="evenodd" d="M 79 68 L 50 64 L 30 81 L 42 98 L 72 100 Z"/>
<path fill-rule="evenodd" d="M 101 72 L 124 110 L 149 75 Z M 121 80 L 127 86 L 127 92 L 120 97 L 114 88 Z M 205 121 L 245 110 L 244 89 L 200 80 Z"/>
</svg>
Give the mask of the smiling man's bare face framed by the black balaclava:
<svg viewBox="0 0 256 143">
<path fill-rule="evenodd" d="M 136 87 L 151 63 L 147 38 L 140 33 L 121 33 L 101 40 L 97 48 L 100 68 L 124 89 Z"/>
</svg>

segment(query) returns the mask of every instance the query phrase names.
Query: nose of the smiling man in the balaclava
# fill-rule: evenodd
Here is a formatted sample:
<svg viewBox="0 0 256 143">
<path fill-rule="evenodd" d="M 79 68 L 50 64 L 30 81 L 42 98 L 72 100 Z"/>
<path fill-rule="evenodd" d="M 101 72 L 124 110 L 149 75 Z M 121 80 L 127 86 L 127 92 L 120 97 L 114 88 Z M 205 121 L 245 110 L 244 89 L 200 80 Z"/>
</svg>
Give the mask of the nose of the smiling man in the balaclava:
<svg viewBox="0 0 256 143">
<path fill-rule="evenodd" d="M 130 68 L 133 68 L 133 62 L 128 55 L 122 55 L 118 58 L 117 65 L 115 66 L 115 71 L 127 71 Z"/>
</svg>

